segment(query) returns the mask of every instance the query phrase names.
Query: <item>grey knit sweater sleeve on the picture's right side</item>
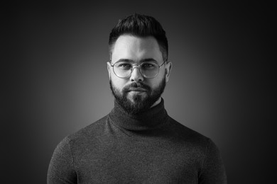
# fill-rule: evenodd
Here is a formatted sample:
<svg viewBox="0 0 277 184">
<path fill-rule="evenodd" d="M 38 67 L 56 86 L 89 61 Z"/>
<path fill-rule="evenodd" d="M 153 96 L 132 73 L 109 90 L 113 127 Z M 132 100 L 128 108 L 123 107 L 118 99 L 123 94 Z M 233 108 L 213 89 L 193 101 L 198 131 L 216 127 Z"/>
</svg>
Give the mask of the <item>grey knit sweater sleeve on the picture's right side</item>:
<svg viewBox="0 0 277 184">
<path fill-rule="evenodd" d="M 200 171 L 200 184 L 227 184 L 227 176 L 219 149 L 209 139 L 207 154 Z"/>
</svg>

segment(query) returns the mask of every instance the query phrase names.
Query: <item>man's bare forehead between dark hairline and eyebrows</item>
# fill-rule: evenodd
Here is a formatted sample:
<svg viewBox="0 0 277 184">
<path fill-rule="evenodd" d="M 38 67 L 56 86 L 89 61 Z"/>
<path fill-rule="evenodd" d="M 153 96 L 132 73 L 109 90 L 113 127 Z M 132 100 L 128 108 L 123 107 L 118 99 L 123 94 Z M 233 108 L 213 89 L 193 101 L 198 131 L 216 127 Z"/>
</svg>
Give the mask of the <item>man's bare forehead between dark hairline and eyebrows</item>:
<svg viewBox="0 0 277 184">
<path fill-rule="evenodd" d="M 153 37 L 139 38 L 134 35 L 121 35 L 114 43 L 112 52 L 114 62 L 119 59 L 139 61 L 146 58 L 163 61 L 158 42 Z"/>
</svg>

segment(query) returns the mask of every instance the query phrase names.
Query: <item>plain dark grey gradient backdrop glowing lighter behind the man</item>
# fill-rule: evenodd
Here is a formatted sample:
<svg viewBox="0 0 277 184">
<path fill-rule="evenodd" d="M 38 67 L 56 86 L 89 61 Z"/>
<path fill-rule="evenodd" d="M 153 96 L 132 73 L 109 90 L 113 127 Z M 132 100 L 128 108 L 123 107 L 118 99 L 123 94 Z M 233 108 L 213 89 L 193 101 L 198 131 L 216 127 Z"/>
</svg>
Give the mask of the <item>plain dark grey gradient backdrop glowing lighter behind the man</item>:
<svg viewBox="0 0 277 184">
<path fill-rule="evenodd" d="M 6 9 L 6 183 L 45 183 L 60 140 L 112 110 L 109 33 L 134 12 L 155 17 L 167 32 L 168 114 L 219 146 L 229 183 L 266 183 L 272 176 L 271 4 L 45 1 Z"/>
</svg>

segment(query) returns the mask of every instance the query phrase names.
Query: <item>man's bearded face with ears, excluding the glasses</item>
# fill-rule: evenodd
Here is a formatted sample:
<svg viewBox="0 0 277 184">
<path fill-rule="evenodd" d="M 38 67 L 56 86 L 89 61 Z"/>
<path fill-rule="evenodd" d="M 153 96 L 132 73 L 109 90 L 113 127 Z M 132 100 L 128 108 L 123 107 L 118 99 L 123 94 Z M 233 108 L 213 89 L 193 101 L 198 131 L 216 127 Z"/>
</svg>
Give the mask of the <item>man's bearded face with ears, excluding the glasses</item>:
<svg viewBox="0 0 277 184">
<path fill-rule="evenodd" d="M 141 64 L 145 59 L 152 59 L 163 64 L 163 55 L 158 42 L 153 37 L 138 38 L 133 35 L 121 35 L 112 50 L 112 64 L 125 59 L 130 64 Z M 161 93 L 169 79 L 171 63 L 163 64 L 158 75 L 153 79 L 145 78 L 134 67 L 131 75 L 121 79 L 114 74 L 113 67 L 108 62 L 109 82 L 117 102 L 129 113 L 141 113 L 161 101 Z"/>
</svg>

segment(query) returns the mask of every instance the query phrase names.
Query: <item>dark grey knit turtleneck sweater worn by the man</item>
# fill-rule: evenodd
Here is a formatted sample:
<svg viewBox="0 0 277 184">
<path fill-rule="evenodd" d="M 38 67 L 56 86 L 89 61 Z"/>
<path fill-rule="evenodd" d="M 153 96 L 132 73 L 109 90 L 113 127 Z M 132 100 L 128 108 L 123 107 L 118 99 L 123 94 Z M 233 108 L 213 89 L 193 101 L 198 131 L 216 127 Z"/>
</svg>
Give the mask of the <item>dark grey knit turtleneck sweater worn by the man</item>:
<svg viewBox="0 0 277 184">
<path fill-rule="evenodd" d="M 211 139 L 173 120 L 164 101 L 144 113 L 114 109 L 56 147 L 48 183 L 227 183 Z"/>
</svg>

